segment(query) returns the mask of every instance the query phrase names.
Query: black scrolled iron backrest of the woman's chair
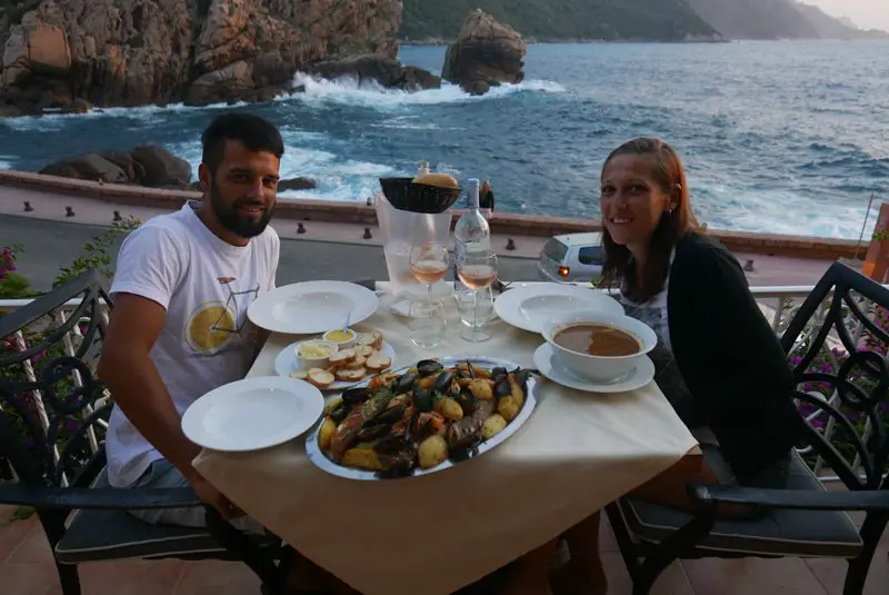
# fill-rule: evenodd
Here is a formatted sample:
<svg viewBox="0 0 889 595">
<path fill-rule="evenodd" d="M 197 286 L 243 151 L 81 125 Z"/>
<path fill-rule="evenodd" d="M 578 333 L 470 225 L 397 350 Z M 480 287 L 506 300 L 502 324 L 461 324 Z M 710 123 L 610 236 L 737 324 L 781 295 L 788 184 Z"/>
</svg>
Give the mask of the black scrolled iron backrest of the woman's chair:
<svg viewBox="0 0 889 595">
<path fill-rule="evenodd" d="M 827 464 L 849 489 L 889 488 L 889 289 L 835 262 L 781 344 L 816 470 Z"/>
</svg>

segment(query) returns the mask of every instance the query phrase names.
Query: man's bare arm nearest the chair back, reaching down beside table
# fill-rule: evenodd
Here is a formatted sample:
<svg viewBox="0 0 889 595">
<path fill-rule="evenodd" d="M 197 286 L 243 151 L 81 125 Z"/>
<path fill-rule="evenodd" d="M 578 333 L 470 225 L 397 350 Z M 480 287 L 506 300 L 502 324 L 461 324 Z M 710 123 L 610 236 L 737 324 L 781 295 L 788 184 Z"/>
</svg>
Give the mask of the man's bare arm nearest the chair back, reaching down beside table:
<svg viewBox="0 0 889 595">
<path fill-rule="evenodd" d="M 200 448 L 182 433 L 179 414 L 149 356 L 166 317 L 157 301 L 118 294 L 98 374 L 142 436 L 192 482 L 200 477 L 191 466 Z"/>
</svg>

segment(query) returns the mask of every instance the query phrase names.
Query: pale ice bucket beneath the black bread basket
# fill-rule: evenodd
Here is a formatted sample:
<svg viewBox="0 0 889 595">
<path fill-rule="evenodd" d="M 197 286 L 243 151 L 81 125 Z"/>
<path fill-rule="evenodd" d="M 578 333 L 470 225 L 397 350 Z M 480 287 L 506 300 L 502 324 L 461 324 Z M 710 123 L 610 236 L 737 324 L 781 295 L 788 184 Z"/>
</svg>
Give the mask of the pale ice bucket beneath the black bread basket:
<svg viewBox="0 0 889 595">
<path fill-rule="evenodd" d="M 410 251 L 427 241 L 448 244 L 452 210 L 442 212 L 413 212 L 397 209 L 382 194 L 376 196 L 377 221 L 386 256 L 386 269 L 394 292 L 414 292 L 422 289 L 410 270 Z"/>
</svg>

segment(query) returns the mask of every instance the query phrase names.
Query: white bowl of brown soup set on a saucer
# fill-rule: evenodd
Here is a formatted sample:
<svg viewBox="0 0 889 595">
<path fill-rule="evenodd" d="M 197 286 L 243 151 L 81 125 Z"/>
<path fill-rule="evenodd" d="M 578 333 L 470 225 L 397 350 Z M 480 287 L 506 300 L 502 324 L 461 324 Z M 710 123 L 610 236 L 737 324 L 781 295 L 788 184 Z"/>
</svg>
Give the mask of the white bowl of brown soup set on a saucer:
<svg viewBox="0 0 889 595">
<path fill-rule="evenodd" d="M 639 344 L 632 355 L 605 356 L 576 351 L 557 343 L 558 335 L 571 327 L 602 325 L 629 334 Z M 552 316 L 543 323 L 543 338 L 552 346 L 559 364 L 581 380 L 615 383 L 627 376 L 658 344 L 658 336 L 646 324 L 623 314 L 601 310 L 575 310 Z"/>
</svg>

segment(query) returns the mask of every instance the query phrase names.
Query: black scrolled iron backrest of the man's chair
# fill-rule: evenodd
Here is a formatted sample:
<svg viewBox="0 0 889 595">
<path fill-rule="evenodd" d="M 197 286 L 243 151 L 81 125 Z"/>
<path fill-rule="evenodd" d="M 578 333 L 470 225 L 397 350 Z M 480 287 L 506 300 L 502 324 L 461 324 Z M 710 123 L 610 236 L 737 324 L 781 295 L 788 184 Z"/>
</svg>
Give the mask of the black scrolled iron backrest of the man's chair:
<svg viewBox="0 0 889 595">
<path fill-rule="evenodd" d="M 110 308 L 89 270 L 0 318 L 0 465 L 19 482 L 87 486 L 104 466 L 112 405 L 94 373 Z"/>
</svg>

